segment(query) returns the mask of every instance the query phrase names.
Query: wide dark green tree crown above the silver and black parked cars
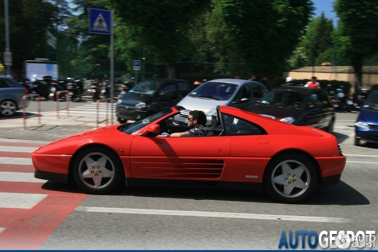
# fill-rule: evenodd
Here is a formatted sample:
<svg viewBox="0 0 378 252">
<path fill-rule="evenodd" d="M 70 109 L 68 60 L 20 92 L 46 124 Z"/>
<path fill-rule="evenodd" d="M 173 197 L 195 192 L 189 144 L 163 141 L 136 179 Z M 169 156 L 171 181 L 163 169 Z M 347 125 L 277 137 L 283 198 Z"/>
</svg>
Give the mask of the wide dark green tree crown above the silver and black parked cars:
<svg viewBox="0 0 378 252">
<path fill-rule="evenodd" d="M 310 0 L 220 0 L 237 55 L 268 79 L 281 71 L 308 24 Z"/>
</svg>

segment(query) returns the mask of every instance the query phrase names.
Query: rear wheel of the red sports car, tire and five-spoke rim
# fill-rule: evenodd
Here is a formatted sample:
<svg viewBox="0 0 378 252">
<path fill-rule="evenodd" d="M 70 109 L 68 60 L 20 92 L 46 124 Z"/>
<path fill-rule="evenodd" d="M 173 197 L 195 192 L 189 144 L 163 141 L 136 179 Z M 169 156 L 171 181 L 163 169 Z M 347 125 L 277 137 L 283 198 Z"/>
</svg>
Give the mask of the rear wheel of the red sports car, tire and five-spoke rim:
<svg viewBox="0 0 378 252">
<path fill-rule="evenodd" d="M 287 154 L 275 157 L 264 173 L 266 192 L 282 203 L 299 203 L 316 188 L 316 171 L 307 157 Z"/>
</svg>

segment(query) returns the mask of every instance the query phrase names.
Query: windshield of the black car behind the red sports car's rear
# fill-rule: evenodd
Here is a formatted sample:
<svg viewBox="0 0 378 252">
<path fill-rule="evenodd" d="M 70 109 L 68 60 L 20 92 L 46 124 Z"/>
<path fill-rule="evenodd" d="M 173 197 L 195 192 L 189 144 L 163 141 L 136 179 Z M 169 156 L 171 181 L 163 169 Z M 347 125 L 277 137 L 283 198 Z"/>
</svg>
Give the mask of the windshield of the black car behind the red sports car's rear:
<svg viewBox="0 0 378 252">
<path fill-rule="evenodd" d="M 305 92 L 294 90 L 271 90 L 259 104 L 302 107 L 306 97 Z"/>
</svg>

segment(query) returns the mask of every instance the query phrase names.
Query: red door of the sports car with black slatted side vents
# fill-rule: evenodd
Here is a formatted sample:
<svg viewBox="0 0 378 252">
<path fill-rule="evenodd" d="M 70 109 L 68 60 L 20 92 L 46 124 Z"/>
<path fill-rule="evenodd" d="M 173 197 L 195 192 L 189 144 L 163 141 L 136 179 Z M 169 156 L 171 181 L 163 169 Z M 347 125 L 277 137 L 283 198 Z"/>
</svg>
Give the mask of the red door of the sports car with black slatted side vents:
<svg viewBox="0 0 378 252">
<path fill-rule="evenodd" d="M 223 180 L 229 155 L 226 137 L 135 137 L 131 177 Z"/>
</svg>

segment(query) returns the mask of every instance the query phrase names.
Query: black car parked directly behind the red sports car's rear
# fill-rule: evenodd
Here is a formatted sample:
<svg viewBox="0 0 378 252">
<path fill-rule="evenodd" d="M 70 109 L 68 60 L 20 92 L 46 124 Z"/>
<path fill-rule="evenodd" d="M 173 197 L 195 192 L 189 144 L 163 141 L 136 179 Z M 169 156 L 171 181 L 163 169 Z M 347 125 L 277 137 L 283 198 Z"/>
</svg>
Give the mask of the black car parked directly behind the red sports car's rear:
<svg viewBox="0 0 378 252">
<path fill-rule="evenodd" d="M 262 100 L 243 108 L 297 126 L 312 126 L 333 131 L 335 110 L 328 93 L 311 87 L 277 87 Z"/>
</svg>

